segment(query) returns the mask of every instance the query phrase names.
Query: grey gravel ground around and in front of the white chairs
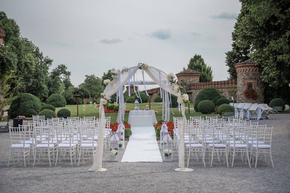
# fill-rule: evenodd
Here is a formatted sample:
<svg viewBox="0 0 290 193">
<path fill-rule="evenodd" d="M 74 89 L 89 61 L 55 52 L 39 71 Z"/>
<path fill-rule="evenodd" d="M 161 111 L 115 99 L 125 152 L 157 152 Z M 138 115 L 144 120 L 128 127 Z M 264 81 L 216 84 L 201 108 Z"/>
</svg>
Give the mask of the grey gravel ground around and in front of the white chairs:
<svg viewBox="0 0 290 193">
<path fill-rule="evenodd" d="M 92 159 L 79 167 L 70 166 L 69 160 L 57 167 L 49 167 L 47 160 L 35 167 L 24 168 L 23 161 L 7 167 L 9 134 L 0 134 L 0 192 L 290 192 L 290 114 L 274 117 L 259 123 L 274 127 L 275 168 L 270 159 L 258 161 L 257 168 L 249 168 L 237 159 L 233 168 L 218 160 L 212 168 L 191 161 L 193 172 L 176 172 L 176 152 L 173 162 L 121 163 L 124 150 L 119 151 L 118 162 L 107 161 L 108 151 L 104 154 L 106 172 L 89 172 Z"/>
</svg>

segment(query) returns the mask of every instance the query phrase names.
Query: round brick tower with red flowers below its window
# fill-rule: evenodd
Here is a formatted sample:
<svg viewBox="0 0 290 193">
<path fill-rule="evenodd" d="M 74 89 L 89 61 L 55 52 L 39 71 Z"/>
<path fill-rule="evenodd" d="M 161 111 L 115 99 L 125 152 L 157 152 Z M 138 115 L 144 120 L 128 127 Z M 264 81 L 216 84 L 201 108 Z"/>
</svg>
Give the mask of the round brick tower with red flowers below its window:
<svg viewBox="0 0 290 193">
<path fill-rule="evenodd" d="M 237 71 L 237 102 L 241 103 L 264 103 L 265 85 L 261 79 L 262 68 L 256 65 L 253 59 L 235 64 Z M 256 90 L 257 97 L 248 99 L 243 95 L 246 89 Z"/>
</svg>

